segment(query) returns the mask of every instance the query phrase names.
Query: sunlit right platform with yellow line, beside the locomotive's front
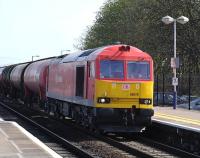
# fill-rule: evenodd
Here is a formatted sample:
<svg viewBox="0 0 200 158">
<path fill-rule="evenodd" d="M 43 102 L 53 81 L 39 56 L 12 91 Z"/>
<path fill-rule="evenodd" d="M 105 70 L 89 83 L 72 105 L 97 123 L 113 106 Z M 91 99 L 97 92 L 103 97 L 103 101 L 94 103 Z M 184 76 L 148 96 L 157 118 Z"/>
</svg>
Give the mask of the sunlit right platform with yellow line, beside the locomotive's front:
<svg viewBox="0 0 200 158">
<path fill-rule="evenodd" d="M 156 106 L 152 120 L 200 132 L 200 111 Z"/>
</svg>

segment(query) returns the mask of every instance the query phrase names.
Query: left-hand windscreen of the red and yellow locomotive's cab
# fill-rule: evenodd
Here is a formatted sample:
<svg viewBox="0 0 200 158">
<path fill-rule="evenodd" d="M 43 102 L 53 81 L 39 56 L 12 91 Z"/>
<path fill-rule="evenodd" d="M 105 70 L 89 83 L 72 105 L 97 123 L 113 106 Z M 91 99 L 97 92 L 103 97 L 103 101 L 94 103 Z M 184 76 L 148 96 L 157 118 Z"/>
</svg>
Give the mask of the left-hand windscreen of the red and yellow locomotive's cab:
<svg viewBox="0 0 200 158">
<path fill-rule="evenodd" d="M 100 62 L 100 78 L 101 79 L 123 79 L 124 78 L 124 62 L 118 60 L 102 60 Z"/>
</svg>

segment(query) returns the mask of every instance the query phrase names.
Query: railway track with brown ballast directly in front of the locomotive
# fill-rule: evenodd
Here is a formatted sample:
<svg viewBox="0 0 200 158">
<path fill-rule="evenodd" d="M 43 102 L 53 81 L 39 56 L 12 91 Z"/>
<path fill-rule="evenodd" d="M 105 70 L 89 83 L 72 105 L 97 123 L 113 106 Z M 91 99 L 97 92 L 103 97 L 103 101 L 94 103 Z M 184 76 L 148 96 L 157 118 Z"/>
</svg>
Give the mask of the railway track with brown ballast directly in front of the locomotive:
<svg viewBox="0 0 200 158">
<path fill-rule="evenodd" d="M 78 127 L 79 128 L 79 127 Z M 87 131 L 86 131 L 87 132 Z M 91 134 L 91 133 L 88 133 Z M 92 133 L 92 135 L 94 135 Z M 137 153 L 140 157 L 186 157 L 186 158 L 200 158 L 200 156 L 193 153 L 189 153 L 183 150 L 180 150 L 169 145 L 156 142 L 154 140 L 148 139 L 144 136 L 120 136 L 120 135 L 95 135 L 95 137 L 108 142 L 112 146 L 115 146 L 123 151 L 126 151 L 130 154 Z M 142 155 L 140 155 L 142 153 Z"/>
</svg>

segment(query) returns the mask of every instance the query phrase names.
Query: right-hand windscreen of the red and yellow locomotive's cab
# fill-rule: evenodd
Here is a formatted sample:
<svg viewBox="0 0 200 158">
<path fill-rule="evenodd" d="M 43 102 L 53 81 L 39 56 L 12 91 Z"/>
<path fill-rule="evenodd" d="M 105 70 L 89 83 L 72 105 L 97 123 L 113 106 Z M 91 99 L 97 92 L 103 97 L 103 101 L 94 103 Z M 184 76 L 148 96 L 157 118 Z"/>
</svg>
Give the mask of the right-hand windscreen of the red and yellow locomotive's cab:
<svg viewBox="0 0 200 158">
<path fill-rule="evenodd" d="M 150 66 L 147 61 L 129 61 L 127 63 L 128 79 L 150 79 Z"/>
</svg>

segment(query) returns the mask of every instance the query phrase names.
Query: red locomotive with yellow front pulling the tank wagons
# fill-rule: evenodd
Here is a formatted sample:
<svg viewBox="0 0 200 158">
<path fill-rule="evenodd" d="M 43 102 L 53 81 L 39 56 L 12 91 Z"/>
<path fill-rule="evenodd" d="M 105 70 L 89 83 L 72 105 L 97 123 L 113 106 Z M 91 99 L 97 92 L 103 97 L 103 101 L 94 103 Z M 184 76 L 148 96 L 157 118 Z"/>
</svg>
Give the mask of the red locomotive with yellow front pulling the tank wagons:
<svg viewBox="0 0 200 158">
<path fill-rule="evenodd" d="M 139 132 L 153 116 L 153 60 L 127 45 L 77 52 L 48 68 L 47 107 L 105 132 Z"/>
</svg>

